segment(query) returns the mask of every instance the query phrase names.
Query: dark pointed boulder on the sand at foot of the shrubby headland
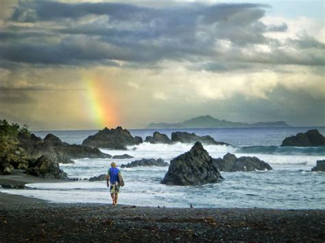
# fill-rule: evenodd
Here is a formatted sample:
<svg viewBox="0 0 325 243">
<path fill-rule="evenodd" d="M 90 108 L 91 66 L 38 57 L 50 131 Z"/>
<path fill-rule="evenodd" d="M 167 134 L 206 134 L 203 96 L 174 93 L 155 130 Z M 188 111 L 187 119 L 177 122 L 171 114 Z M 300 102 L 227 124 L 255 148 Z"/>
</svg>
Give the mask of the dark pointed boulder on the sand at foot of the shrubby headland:
<svg viewBox="0 0 325 243">
<path fill-rule="evenodd" d="M 67 179 L 67 173 L 60 169 L 59 164 L 45 155 L 36 159 L 36 162 L 32 163 L 26 172 L 29 175 L 48 179 Z"/>
</svg>

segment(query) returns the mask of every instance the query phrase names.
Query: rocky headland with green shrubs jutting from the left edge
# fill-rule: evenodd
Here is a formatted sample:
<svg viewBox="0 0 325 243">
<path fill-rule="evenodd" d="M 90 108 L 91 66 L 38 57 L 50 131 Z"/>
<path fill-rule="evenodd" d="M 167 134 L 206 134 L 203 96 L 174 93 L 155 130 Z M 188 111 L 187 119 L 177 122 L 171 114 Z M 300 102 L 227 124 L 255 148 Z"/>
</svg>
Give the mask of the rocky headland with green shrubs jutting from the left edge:
<svg viewBox="0 0 325 243">
<path fill-rule="evenodd" d="M 45 157 L 40 159 L 42 155 Z M 2 174 L 13 174 L 14 170 L 18 169 L 47 177 L 46 172 L 42 172 L 43 168 L 53 164 L 49 166 L 49 173 L 55 177 L 65 178 L 63 174 L 60 175 L 60 171 L 56 173 L 55 167 L 58 163 L 73 163 L 71 159 L 84 157 L 109 158 L 111 155 L 101 153 L 99 149 L 67 144 L 53 134 L 48 134 L 43 140 L 29 133 L 25 125 L 19 127 L 17 124 L 10 125 L 6 120 L 0 120 L 0 173 Z"/>
</svg>

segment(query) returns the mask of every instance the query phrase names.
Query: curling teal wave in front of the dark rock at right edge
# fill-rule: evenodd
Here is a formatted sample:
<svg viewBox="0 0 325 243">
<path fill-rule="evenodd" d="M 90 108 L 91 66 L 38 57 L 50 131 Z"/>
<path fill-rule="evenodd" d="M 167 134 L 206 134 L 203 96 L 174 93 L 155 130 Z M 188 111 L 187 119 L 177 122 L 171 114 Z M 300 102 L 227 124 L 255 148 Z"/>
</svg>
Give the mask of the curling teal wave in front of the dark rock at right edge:
<svg viewBox="0 0 325 243">
<path fill-rule="evenodd" d="M 236 153 L 263 153 L 271 155 L 325 155 L 324 146 L 244 146 Z"/>
</svg>

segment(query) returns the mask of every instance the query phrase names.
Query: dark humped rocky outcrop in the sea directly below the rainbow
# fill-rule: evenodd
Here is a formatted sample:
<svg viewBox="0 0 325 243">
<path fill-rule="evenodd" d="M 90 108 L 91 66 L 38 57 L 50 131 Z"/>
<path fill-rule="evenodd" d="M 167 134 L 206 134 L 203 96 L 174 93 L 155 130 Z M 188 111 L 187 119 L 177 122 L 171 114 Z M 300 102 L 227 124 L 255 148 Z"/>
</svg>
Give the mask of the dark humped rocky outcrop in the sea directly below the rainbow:
<svg viewBox="0 0 325 243">
<path fill-rule="evenodd" d="M 126 146 L 141 144 L 143 142 L 140 137 L 132 137 L 130 131 L 117 127 L 116 129 L 108 129 L 97 132 L 95 135 L 88 136 L 83 142 L 84 146 L 91 146 L 106 149 L 126 149 Z"/>
</svg>

